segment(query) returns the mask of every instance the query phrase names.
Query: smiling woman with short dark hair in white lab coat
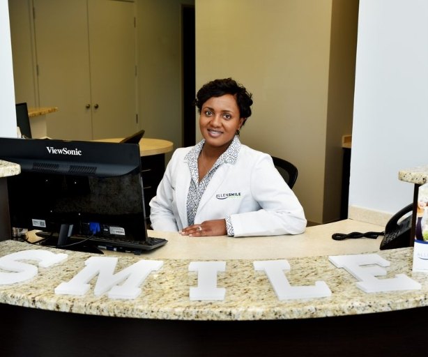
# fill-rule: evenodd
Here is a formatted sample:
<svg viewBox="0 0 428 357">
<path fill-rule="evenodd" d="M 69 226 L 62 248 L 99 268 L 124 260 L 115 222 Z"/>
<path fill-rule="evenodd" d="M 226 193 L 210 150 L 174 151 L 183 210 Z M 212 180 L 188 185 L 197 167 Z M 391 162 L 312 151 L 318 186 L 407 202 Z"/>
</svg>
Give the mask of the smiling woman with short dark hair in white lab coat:
<svg viewBox="0 0 428 357">
<path fill-rule="evenodd" d="M 240 143 L 252 95 L 233 79 L 215 79 L 197 93 L 204 139 L 177 149 L 156 196 L 151 225 L 185 236 L 300 234 L 306 219 L 296 195 L 266 153 Z"/>
</svg>

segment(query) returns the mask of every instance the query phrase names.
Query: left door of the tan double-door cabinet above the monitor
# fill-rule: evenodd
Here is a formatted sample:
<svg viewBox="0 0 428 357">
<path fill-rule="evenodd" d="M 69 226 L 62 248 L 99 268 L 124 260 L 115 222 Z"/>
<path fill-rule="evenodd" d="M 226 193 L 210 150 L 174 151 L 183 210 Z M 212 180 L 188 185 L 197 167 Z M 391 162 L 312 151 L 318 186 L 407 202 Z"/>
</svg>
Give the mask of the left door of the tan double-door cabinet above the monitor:
<svg viewBox="0 0 428 357">
<path fill-rule="evenodd" d="M 33 1 L 40 106 L 59 108 L 47 135 L 92 139 L 86 0 Z"/>
</svg>

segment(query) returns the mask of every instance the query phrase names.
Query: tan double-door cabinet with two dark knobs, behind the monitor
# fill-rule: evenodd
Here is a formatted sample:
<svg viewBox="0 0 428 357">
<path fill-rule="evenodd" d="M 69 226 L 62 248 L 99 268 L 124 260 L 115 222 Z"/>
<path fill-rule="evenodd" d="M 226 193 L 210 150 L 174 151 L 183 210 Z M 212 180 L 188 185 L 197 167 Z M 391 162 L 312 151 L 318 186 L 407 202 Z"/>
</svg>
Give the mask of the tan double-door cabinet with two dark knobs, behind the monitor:
<svg viewBox="0 0 428 357">
<path fill-rule="evenodd" d="M 39 104 L 59 108 L 47 135 L 125 137 L 138 130 L 135 3 L 33 0 Z"/>
</svg>

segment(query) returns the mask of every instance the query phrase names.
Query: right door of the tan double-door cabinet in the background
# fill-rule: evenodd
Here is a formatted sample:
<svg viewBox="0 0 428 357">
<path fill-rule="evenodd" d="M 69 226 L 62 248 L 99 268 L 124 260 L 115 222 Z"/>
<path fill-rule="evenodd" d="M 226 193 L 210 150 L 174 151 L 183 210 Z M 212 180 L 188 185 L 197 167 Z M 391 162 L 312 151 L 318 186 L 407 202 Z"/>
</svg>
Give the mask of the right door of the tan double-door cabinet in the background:
<svg viewBox="0 0 428 357">
<path fill-rule="evenodd" d="M 93 139 L 126 137 L 136 120 L 135 4 L 89 0 Z"/>
</svg>

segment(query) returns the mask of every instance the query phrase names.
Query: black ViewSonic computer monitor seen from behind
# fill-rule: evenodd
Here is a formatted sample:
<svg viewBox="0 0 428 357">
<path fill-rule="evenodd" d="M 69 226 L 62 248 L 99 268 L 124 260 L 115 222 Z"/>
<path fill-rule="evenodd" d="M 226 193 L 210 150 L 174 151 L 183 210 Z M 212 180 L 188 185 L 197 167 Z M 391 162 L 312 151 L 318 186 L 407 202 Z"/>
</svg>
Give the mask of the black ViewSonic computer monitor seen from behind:
<svg viewBox="0 0 428 357">
<path fill-rule="evenodd" d="M 58 248 L 73 235 L 148 239 L 137 144 L 0 138 L 0 159 L 21 165 L 11 227 L 52 233 Z"/>
</svg>

